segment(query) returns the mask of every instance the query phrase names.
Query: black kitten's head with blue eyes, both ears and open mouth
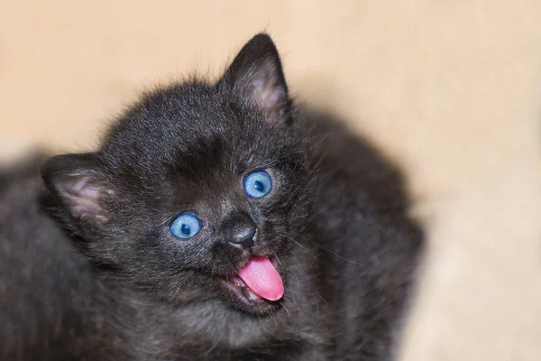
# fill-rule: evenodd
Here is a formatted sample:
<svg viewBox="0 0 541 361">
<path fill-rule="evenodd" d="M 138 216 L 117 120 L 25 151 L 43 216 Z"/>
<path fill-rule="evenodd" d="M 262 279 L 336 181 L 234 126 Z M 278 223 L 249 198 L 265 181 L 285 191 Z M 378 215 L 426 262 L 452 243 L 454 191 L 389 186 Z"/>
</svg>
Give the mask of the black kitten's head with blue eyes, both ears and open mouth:
<svg viewBox="0 0 541 361">
<path fill-rule="evenodd" d="M 53 157 L 42 177 L 97 264 L 170 302 L 266 312 L 280 304 L 279 259 L 306 211 L 292 123 L 278 52 L 259 34 L 216 83 L 147 94 L 96 153 Z"/>
</svg>

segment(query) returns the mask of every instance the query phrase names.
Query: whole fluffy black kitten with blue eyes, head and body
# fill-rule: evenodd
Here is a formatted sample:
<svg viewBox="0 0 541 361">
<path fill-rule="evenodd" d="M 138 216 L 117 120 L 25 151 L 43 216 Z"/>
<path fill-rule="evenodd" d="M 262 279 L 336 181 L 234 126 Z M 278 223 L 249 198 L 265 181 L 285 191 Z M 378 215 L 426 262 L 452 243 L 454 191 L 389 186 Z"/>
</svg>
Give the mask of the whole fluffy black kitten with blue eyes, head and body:
<svg viewBox="0 0 541 361">
<path fill-rule="evenodd" d="M 388 360 L 422 233 L 398 171 L 291 103 L 271 38 L 0 174 L 2 359 Z"/>
</svg>

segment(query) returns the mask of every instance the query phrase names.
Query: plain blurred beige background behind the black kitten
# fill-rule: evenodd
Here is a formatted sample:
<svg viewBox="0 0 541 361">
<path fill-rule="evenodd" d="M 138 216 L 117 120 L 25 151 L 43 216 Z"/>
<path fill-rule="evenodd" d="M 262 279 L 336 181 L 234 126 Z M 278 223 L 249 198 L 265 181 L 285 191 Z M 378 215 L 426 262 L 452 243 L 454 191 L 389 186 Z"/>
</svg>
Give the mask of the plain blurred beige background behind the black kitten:
<svg viewBox="0 0 541 361">
<path fill-rule="evenodd" d="M 407 170 L 430 246 L 403 359 L 541 360 L 539 1 L 0 0 L 0 158 L 92 148 L 261 30 L 299 99 Z"/>
</svg>

